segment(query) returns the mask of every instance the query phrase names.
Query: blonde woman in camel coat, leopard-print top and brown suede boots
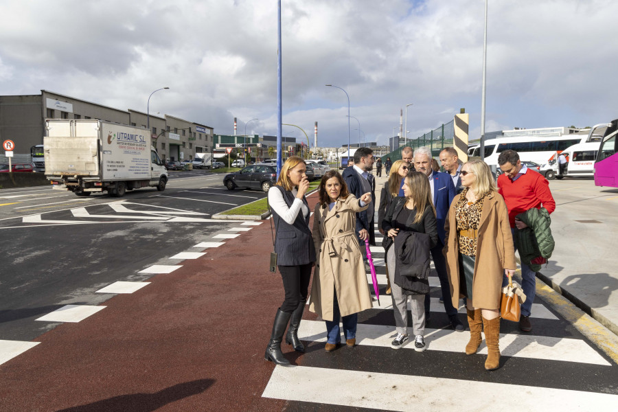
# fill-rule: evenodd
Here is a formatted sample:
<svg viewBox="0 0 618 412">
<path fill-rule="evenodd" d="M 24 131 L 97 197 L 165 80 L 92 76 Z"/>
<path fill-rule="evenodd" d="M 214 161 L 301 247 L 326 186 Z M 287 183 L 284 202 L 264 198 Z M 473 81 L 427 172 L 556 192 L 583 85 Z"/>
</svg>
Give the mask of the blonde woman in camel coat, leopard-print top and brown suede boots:
<svg viewBox="0 0 618 412">
<path fill-rule="evenodd" d="M 466 355 L 477 352 L 485 328 L 488 356 L 485 369 L 500 365 L 500 295 L 502 276 L 514 274 L 515 249 L 504 199 L 496 190 L 489 166 L 473 160 L 461 167 L 464 191 L 450 204 L 443 253 L 446 256 L 450 297 L 468 298 L 470 341 Z"/>
</svg>

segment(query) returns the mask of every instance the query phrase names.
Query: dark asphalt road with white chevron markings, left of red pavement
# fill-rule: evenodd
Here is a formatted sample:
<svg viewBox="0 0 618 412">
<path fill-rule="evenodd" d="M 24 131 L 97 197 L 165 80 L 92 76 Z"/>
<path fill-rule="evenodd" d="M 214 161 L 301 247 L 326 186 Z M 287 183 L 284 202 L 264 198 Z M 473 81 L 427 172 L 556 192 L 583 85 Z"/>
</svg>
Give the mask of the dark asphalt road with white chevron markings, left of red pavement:
<svg viewBox="0 0 618 412">
<path fill-rule="evenodd" d="M 52 187 L 0 191 L 0 340 L 30 341 L 59 323 L 36 321 L 65 305 L 99 305 L 97 293 L 225 231 L 234 222 L 211 220 L 220 211 L 265 196 L 230 192 L 225 174 L 171 172 L 163 192 L 154 187 L 123 198 L 88 198 Z"/>
</svg>

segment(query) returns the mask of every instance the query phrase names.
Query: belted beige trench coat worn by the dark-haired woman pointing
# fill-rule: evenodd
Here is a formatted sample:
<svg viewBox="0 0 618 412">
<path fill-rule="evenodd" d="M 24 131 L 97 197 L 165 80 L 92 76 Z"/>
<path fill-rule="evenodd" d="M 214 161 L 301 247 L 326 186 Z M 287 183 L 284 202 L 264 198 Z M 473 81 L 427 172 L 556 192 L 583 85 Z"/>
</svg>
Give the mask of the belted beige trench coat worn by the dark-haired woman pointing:
<svg viewBox="0 0 618 412">
<path fill-rule="evenodd" d="M 333 321 L 332 304 L 336 292 L 341 316 L 371 308 L 363 255 L 356 240 L 356 213 L 367 209 L 350 194 L 337 199 L 329 211 L 315 205 L 313 241 L 317 260 L 311 285 L 309 310 L 325 321 Z"/>
</svg>

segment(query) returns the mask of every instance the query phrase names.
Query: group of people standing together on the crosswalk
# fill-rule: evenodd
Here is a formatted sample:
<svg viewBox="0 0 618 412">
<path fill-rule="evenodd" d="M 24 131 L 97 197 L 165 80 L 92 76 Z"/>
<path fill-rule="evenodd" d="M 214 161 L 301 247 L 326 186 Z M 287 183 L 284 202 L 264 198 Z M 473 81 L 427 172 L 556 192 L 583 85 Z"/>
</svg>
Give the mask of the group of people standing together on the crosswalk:
<svg viewBox="0 0 618 412">
<path fill-rule="evenodd" d="M 485 369 L 496 369 L 500 360 L 501 288 L 516 269 L 514 231 L 526 227 L 520 214 L 541 207 L 549 214 L 556 203 L 547 180 L 527 170 L 513 150 L 505 150 L 499 157 L 504 173 L 497 185 L 486 163 L 462 163 L 455 148 L 442 150 L 439 159 L 446 172 L 435 170 L 428 148 L 416 152 L 404 148 L 401 160 L 392 163 L 387 158 L 384 162 L 388 179 L 377 211 L 378 230 L 385 236 L 386 293 L 391 295 L 396 324 L 391 347 L 399 349 L 409 340 L 410 301 L 414 349 L 420 352 L 426 348 L 431 256 L 442 292 L 440 300 L 450 327 L 457 332 L 465 330 L 457 316 L 459 299 L 464 298 L 470 328 L 464 352 L 477 352 L 484 329 L 488 347 Z M 305 350 L 297 332 L 313 267 L 309 310 L 325 321 L 325 350 L 332 352 L 341 345 L 340 319 L 345 344 L 356 345 L 358 312 L 372 307 L 365 242 L 375 245 L 373 165 L 371 149 L 358 148 L 354 163 L 343 174 L 336 170 L 325 173 L 319 184 L 312 229 L 303 159 L 288 158 L 277 184 L 269 190 L 285 300 L 275 316 L 267 360 L 290 365 L 280 347 L 286 329 L 286 343 L 298 352 Z M 529 332 L 536 272 L 522 263 L 522 277 L 527 299 L 521 306 L 519 326 Z"/>
</svg>

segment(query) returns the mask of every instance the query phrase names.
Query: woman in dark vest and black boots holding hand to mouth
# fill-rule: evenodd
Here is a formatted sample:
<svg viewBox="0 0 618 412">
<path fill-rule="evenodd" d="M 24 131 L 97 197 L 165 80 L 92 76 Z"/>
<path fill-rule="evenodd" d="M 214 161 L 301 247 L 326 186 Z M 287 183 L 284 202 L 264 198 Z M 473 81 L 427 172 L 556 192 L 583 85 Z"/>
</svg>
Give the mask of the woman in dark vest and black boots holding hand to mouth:
<svg viewBox="0 0 618 412">
<path fill-rule="evenodd" d="M 306 164 L 297 156 L 288 157 L 281 168 L 277 184 L 268 190 L 268 204 L 275 220 L 275 253 L 283 279 L 285 300 L 277 310 L 271 341 L 264 358 L 277 365 L 290 366 L 281 352 L 281 342 L 288 322 L 286 342 L 297 352 L 305 352 L 298 339 L 298 327 L 307 301 L 315 248 L 309 229 L 309 205 L 305 193 L 309 188 Z"/>
</svg>

